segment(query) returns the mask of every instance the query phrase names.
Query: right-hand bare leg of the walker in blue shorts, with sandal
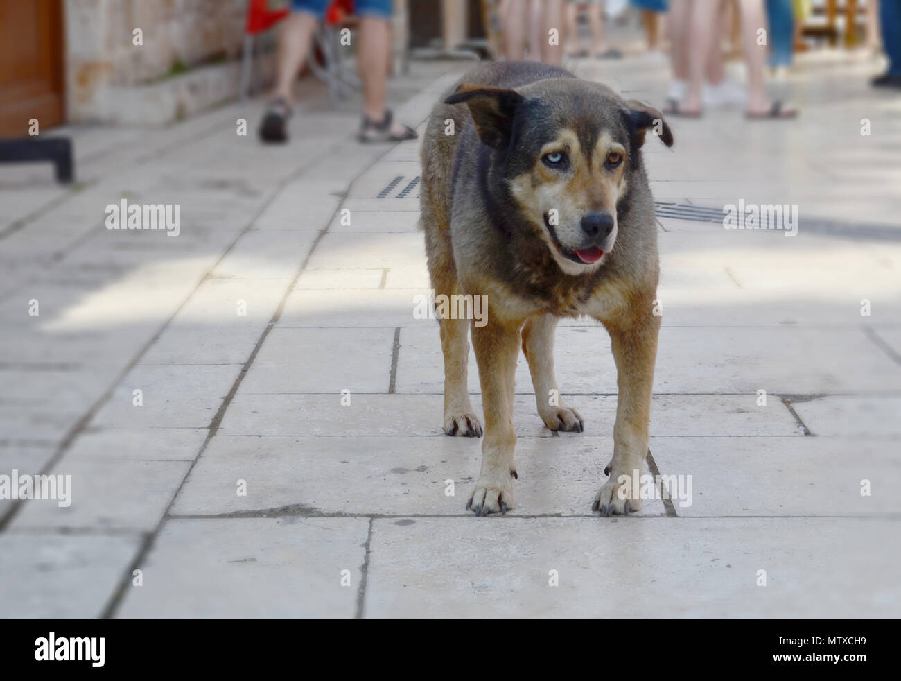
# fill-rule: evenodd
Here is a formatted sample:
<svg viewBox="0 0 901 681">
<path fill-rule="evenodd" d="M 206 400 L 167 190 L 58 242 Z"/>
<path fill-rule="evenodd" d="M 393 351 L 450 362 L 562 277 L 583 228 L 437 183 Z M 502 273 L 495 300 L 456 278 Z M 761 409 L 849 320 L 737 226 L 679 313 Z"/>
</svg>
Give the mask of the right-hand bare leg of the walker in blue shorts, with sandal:
<svg viewBox="0 0 901 681">
<path fill-rule="evenodd" d="M 356 4 L 359 15 L 357 70 L 363 84 L 364 135 L 376 132 L 378 124 L 386 124 L 387 131 L 383 132 L 397 137 L 412 132 L 406 125 L 390 120 L 385 106 L 391 54 L 391 10 L 391 0 L 357 0 Z"/>
</svg>

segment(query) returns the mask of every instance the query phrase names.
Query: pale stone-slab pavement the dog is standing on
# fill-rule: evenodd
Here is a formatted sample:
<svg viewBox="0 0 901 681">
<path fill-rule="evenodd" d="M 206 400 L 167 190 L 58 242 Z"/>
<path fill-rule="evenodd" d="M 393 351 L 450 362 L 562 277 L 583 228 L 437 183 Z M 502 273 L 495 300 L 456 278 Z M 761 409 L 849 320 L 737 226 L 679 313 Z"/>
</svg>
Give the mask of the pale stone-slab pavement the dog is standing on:
<svg viewBox="0 0 901 681">
<path fill-rule="evenodd" d="M 571 66 L 661 102 L 647 60 Z M 398 117 L 462 68 L 414 64 Z M 782 86 L 796 123 L 715 112 L 646 144 L 669 204 L 651 471 L 692 494 L 627 519 L 590 513 L 616 399 L 587 320 L 556 347 L 586 432 L 543 427 L 521 358 L 517 506 L 464 511 L 480 441 L 441 434 L 413 315 L 418 146 L 354 143 L 352 105 L 305 85 L 278 149 L 259 102 L 71 131 L 74 189 L 0 168 L 0 474 L 72 480 L 67 507 L 0 501 L 0 614 L 898 617 L 901 100 L 873 70 L 813 55 Z M 180 204 L 181 234 L 106 230 L 122 198 Z M 741 199 L 796 204 L 797 235 L 679 219 Z"/>
</svg>

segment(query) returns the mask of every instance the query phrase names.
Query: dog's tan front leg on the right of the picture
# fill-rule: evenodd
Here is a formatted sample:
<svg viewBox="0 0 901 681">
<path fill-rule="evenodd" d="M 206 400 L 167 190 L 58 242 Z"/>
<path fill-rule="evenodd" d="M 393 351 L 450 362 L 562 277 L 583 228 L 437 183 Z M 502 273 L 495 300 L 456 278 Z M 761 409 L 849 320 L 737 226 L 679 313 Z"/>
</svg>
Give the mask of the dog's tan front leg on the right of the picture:
<svg viewBox="0 0 901 681">
<path fill-rule="evenodd" d="M 608 325 L 616 362 L 614 457 L 607 467 L 610 479 L 595 495 L 593 511 L 609 516 L 638 511 L 642 507 L 641 475 L 648 452 L 648 423 L 660 317 L 647 314 L 625 327 Z"/>
</svg>

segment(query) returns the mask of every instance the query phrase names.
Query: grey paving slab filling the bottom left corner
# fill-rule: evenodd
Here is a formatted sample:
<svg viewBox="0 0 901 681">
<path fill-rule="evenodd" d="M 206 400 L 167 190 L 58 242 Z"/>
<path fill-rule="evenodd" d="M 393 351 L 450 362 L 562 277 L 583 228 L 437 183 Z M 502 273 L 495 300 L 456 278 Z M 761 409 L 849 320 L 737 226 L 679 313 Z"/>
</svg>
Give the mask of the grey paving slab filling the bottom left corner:
<svg viewBox="0 0 901 681">
<path fill-rule="evenodd" d="M 141 537 L 6 531 L 0 535 L 0 616 L 91 619 L 112 598 Z M 6 588 L 10 587 L 10 588 Z"/>
</svg>

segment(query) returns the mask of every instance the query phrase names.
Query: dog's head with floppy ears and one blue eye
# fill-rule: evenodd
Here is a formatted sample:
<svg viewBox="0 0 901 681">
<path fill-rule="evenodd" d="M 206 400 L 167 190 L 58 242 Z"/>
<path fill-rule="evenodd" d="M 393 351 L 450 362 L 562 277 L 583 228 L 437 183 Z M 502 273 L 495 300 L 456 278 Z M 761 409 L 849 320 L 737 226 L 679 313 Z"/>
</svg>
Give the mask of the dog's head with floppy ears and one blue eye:
<svg viewBox="0 0 901 681">
<path fill-rule="evenodd" d="M 577 78 L 519 90 L 463 84 L 445 100 L 462 102 L 509 196 L 569 274 L 596 269 L 614 248 L 645 133 L 673 143 L 660 111 Z"/>
</svg>

